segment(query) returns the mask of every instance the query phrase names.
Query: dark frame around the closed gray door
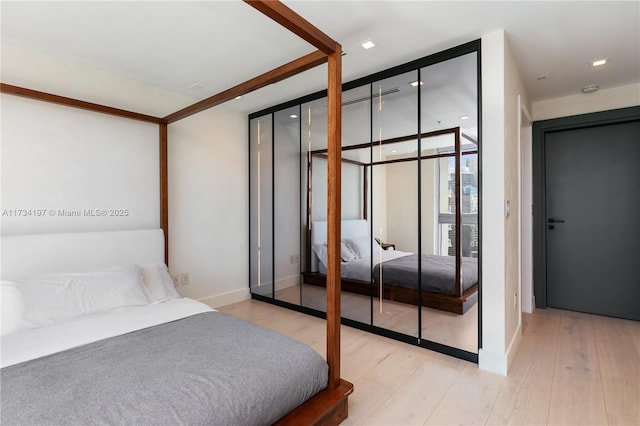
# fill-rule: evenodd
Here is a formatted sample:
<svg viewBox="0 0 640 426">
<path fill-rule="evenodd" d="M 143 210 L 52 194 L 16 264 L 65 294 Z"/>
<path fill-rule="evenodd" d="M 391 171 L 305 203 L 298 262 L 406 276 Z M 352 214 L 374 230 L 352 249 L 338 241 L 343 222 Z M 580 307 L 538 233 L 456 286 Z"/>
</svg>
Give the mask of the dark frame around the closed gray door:
<svg viewBox="0 0 640 426">
<path fill-rule="evenodd" d="M 546 135 L 635 120 L 640 120 L 640 106 L 533 122 L 533 291 L 536 308 L 547 307 Z"/>
</svg>

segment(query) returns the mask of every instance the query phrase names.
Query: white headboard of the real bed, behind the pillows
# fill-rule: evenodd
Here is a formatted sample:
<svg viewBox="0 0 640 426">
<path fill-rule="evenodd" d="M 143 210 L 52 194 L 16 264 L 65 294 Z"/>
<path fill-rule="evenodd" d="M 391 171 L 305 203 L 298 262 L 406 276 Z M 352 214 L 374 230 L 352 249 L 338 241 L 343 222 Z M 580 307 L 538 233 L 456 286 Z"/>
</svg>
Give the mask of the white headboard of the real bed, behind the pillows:
<svg viewBox="0 0 640 426">
<path fill-rule="evenodd" d="M 3 235 L 2 279 L 164 263 L 162 229 Z"/>
</svg>

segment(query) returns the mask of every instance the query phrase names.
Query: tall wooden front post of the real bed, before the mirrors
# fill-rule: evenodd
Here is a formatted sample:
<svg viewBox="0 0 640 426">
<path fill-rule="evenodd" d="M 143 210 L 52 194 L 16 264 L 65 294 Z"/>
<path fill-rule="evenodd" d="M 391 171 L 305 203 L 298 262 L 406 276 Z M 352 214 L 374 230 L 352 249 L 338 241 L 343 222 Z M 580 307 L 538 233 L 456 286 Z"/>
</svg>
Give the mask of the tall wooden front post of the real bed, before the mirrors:
<svg viewBox="0 0 640 426">
<path fill-rule="evenodd" d="M 328 56 L 327 362 L 329 387 L 340 385 L 340 221 L 342 166 L 342 49 Z"/>
</svg>

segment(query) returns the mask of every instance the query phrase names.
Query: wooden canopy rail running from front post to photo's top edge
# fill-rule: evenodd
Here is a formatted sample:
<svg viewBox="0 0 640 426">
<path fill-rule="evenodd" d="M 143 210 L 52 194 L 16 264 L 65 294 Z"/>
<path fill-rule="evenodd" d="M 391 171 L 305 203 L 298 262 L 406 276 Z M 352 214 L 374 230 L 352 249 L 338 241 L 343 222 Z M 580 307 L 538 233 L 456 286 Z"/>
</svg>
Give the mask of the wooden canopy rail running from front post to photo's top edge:
<svg viewBox="0 0 640 426">
<path fill-rule="evenodd" d="M 311 22 L 289 9 L 283 3 L 273 0 L 244 0 L 254 9 L 262 12 L 292 33 L 329 55 L 340 49 L 340 45 L 320 31 Z"/>
</svg>

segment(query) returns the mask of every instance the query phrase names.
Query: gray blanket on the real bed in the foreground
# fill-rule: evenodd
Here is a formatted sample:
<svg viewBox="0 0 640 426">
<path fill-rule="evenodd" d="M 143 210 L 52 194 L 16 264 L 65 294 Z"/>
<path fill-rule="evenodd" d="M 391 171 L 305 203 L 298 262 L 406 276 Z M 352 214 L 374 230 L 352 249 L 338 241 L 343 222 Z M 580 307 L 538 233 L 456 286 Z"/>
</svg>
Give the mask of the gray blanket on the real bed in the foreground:
<svg viewBox="0 0 640 426">
<path fill-rule="evenodd" d="M 2 425 L 268 425 L 326 387 L 309 346 L 207 312 L 1 370 Z"/>
</svg>

